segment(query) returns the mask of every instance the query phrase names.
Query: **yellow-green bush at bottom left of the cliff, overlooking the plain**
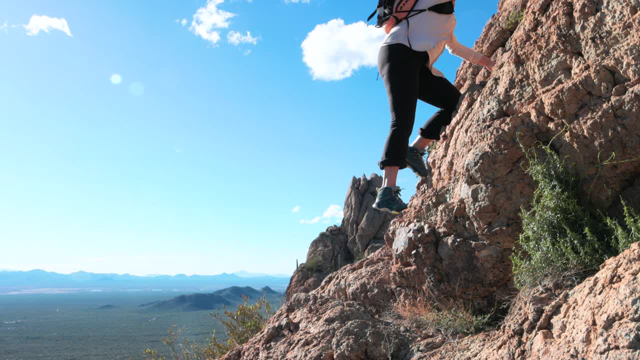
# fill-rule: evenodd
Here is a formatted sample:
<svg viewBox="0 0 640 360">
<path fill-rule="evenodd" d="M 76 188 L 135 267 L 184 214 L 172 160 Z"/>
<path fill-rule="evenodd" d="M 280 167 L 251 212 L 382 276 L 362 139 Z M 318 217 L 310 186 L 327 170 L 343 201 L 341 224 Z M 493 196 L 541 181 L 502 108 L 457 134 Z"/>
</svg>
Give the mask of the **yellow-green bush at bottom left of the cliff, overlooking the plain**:
<svg viewBox="0 0 640 360">
<path fill-rule="evenodd" d="M 209 338 L 206 347 L 198 345 L 195 341 L 182 338 L 182 329 L 175 326 L 169 329 L 169 334 L 163 338 L 163 343 L 171 353 L 173 360 L 214 360 L 224 356 L 230 350 L 237 348 L 252 336 L 264 328 L 264 324 L 271 316 L 271 304 L 264 297 L 258 299 L 255 304 L 249 304 L 249 300 L 243 295 L 244 304 L 239 304 L 236 311 L 229 311 L 225 306 L 223 313 L 211 313 L 211 316 L 220 321 L 227 340 L 223 341 L 214 331 Z M 182 340 L 180 340 L 182 338 Z M 145 350 L 145 360 L 166 360 L 157 350 Z"/>
</svg>

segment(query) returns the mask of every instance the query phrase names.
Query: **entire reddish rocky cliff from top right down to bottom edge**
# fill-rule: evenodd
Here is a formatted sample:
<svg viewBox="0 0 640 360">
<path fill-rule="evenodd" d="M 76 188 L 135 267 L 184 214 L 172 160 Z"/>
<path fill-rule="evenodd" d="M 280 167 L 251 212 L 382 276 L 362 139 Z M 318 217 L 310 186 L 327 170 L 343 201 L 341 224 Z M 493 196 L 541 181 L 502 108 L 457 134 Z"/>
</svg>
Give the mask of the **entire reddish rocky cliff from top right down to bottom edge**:
<svg viewBox="0 0 640 360">
<path fill-rule="evenodd" d="M 475 45 L 497 66 L 458 70 L 463 97 L 429 156 L 433 177 L 391 222 L 387 246 L 302 292 L 290 286 L 265 329 L 225 359 L 640 359 L 640 245 L 570 291 L 515 296 L 509 261 L 535 188 L 518 141 L 566 158 L 585 204 L 611 216 L 621 200 L 639 208 L 640 165 L 627 161 L 640 154 L 639 10 L 637 0 L 501 0 Z M 511 306 L 497 329 L 454 338 L 388 316 L 424 293 L 478 311 Z"/>
</svg>

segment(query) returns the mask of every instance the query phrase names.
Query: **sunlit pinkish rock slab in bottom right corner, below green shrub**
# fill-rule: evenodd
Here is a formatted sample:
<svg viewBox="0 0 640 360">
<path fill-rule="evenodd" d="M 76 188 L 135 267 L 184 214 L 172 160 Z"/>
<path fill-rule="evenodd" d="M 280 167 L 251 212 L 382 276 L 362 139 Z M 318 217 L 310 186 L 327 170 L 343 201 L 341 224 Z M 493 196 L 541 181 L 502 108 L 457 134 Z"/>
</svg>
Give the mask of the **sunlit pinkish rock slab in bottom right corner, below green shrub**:
<svg viewBox="0 0 640 360">
<path fill-rule="evenodd" d="M 412 360 L 640 359 L 640 243 L 556 299 L 518 300 L 504 325 Z"/>
</svg>

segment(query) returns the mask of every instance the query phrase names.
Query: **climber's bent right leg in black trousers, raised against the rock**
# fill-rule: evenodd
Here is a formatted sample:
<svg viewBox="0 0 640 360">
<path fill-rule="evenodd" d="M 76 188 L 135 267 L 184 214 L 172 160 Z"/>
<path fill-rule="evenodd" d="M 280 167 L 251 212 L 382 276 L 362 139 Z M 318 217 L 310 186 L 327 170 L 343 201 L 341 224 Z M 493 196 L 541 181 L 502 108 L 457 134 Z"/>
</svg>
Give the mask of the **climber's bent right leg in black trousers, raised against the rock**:
<svg viewBox="0 0 640 360">
<path fill-rule="evenodd" d="M 433 75 L 428 67 L 420 71 L 419 99 L 440 110 L 420 127 L 420 136 L 413 142 L 415 145 L 426 149 L 433 140 L 440 140 L 440 130 L 451 123 L 460 96 L 460 91 L 449 80 Z"/>
</svg>

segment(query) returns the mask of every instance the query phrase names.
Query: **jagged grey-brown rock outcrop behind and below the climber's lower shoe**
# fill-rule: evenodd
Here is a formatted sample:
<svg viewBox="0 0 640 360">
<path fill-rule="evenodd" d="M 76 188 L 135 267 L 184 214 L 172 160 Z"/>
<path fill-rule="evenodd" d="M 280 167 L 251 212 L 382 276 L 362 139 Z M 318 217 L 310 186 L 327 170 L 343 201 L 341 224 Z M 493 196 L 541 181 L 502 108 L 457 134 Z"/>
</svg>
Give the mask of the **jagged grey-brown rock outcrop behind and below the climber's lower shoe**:
<svg viewBox="0 0 640 360">
<path fill-rule="evenodd" d="M 344 217 L 339 227 L 330 226 L 312 241 L 305 264 L 291 277 L 287 300 L 296 293 L 308 293 L 322 283 L 326 275 L 369 256 L 385 245 L 384 236 L 394 215 L 381 213 L 371 206 L 376 200 L 376 188 L 382 186 L 377 174 L 353 177 L 346 199 Z"/>
</svg>

